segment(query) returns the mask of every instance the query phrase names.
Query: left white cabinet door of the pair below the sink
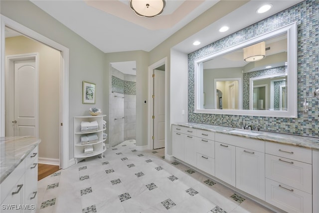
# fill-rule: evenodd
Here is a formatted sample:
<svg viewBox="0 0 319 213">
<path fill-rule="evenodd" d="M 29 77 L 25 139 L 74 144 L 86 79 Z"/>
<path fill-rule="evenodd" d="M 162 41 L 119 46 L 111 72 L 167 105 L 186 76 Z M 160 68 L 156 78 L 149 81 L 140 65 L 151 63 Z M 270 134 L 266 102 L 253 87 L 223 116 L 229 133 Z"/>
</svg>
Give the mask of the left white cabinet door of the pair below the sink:
<svg viewBox="0 0 319 213">
<path fill-rule="evenodd" d="M 215 177 L 236 186 L 235 146 L 215 142 Z"/>
</svg>

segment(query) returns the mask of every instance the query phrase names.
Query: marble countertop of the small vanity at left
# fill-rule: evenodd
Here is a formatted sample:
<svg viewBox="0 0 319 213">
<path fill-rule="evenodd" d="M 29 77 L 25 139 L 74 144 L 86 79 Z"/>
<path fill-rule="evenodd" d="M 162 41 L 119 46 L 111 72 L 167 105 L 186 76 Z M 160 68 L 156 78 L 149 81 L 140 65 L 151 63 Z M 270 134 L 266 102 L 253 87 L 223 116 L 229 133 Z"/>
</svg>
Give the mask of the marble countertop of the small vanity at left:
<svg viewBox="0 0 319 213">
<path fill-rule="evenodd" d="M 31 136 L 0 138 L 0 184 L 40 142 Z"/>
</svg>

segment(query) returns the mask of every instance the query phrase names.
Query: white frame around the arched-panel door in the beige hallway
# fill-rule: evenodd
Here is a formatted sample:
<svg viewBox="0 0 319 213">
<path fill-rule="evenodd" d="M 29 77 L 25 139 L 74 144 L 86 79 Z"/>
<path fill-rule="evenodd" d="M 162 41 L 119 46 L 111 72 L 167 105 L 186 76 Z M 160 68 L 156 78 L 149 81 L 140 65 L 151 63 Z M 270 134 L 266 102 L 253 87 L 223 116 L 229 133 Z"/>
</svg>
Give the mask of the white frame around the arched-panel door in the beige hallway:
<svg viewBox="0 0 319 213">
<path fill-rule="evenodd" d="M 7 55 L 5 56 L 6 59 L 6 69 L 5 69 L 5 82 L 12 82 L 14 81 L 14 78 L 12 76 L 12 73 L 14 75 L 14 62 L 15 61 L 20 61 L 20 60 L 35 60 L 35 91 L 36 91 L 36 98 L 35 98 L 35 137 L 39 137 L 39 53 L 26 53 L 26 54 L 18 54 L 18 55 Z M 11 72 L 11 73 L 10 73 Z M 11 95 L 8 95 L 5 99 L 5 107 L 7 109 L 12 109 L 13 106 L 11 105 L 13 103 L 13 100 L 11 97 L 14 97 L 12 93 L 14 92 L 14 86 L 13 84 L 7 84 L 5 85 L 6 91 L 9 91 Z M 8 94 L 9 94 L 8 93 Z M 11 114 L 6 113 L 5 117 L 5 124 L 8 125 L 10 123 L 9 120 L 13 120 Z M 5 131 L 5 134 L 8 135 L 8 129 Z"/>
</svg>

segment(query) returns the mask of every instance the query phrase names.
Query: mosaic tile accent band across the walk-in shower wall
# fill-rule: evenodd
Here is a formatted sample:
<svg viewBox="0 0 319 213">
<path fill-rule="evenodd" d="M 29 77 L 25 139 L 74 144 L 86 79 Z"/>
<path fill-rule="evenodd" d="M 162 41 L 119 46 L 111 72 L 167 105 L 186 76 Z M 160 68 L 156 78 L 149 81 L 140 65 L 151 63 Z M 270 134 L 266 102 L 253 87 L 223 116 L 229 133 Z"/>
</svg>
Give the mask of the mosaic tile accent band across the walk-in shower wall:
<svg viewBox="0 0 319 213">
<path fill-rule="evenodd" d="M 136 82 L 125 81 L 112 75 L 112 92 L 136 95 Z"/>
</svg>

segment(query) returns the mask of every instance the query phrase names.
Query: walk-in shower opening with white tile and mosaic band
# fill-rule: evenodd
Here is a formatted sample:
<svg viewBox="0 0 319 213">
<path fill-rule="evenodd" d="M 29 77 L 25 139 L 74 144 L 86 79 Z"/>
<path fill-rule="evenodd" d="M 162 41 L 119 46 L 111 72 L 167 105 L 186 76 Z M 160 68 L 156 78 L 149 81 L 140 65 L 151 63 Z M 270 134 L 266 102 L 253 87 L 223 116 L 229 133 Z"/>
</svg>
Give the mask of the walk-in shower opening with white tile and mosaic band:
<svg viewBox="0 0 319 213">
<path fill-rule="evenodd" d="M 136 61 L 110 63 L 109 147 L 136 140 Z"/>
</svg>

